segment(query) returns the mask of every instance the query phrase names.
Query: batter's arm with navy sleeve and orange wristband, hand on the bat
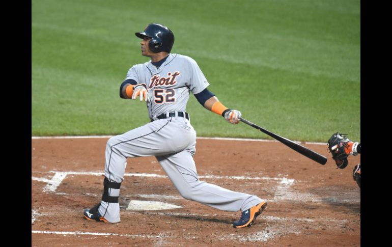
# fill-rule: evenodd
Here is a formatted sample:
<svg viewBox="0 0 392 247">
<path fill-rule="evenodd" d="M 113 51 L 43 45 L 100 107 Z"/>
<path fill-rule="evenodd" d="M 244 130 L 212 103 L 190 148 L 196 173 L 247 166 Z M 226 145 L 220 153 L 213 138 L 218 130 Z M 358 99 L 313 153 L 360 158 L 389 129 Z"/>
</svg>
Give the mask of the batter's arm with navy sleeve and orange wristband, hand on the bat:
<svg viewBox="0 0 392 247">
<path fill-rule="evenodd" d="M 211 93 L 207 88 L 202 92 L 194 95 L 201 105 L 209 111 L 221 115 L 229 123 L 238 124 L 241 118 L 241 112 L 232 110 L 218 100 L 218 98 Z"/>
</svg>

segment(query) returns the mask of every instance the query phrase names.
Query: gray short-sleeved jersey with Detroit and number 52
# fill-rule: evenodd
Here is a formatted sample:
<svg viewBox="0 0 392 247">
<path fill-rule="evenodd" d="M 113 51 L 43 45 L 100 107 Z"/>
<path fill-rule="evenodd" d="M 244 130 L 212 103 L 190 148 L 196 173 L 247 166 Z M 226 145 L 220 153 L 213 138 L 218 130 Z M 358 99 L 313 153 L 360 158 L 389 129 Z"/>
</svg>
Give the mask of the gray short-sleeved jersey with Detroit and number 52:
<svg viewBox="0 0 392 247">
<path fill-rule="evenodd" d="M 150 119 L 162 113 L 185 112 L 189 91 L 198 94 L 210 85 L 198 64 L 180 54 L 169 54 L 159 68 L 151 61 L 134 65 L 125 79 L 146 84 L 151 97 L 147 103 Z"/>
</svg>

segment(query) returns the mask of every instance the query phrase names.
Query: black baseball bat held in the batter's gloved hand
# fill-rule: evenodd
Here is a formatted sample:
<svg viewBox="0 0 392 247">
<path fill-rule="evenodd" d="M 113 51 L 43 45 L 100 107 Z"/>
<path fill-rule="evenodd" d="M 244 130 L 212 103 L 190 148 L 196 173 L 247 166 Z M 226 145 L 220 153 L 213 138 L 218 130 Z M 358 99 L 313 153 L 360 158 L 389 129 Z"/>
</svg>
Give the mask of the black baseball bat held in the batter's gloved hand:
<svg viewBox="0 0 392 247">
<path fill-rule="evenodd" d="M 266 129 L 263 129 L 262 127 L 254 124 L 252 122 L 249 122 L 249 121 L 247 121 L 244 118 L 241 118 L 240 120 L 241 120 L 241 122 L 246 123 L 247 125 L 250 125 L 250 126 L 256 128 L 256 129 L 260 129 L 261 132 L 264 132 L 264 133 L 268 134 L 272 138 L 274 138 L 277 141 L 285 144 L 286 146 L 288 146 L 289 148 L 293 149 L 294 151 L 297 151 L 298 153 L 300 153 L 300 154 L 302 154 L 302 155 L 304 155 L 304 156 L 306 156 L 306 157 L 308 157 L 308 158 L 310 158 L 310 159 L 312 159 L 312 160 L 314 160 L 314 161 L 316 161 L 316 162 L 318 162 L 320 164 L 324 165 L 327 162 L 327 158 L 325 156 L 323 156 L 321 154 L 318 154 L 315 151 L 310 150 L 309 148 L 306 148 L 306 147 L 304 147 L 302 145 L 299 145 L 298 143 L 295 143 L 295 142 L 293 142 L 293 141 L 291 141 L 291 140 L 289 140 L 287 138 L 284 138 L 284 137 L 282 137 L 280 135 L 277 135 L 277 134 L 272 133 L 272 132 L 270 132 L 270 131 L 268 131 Z"/>
</svg>

